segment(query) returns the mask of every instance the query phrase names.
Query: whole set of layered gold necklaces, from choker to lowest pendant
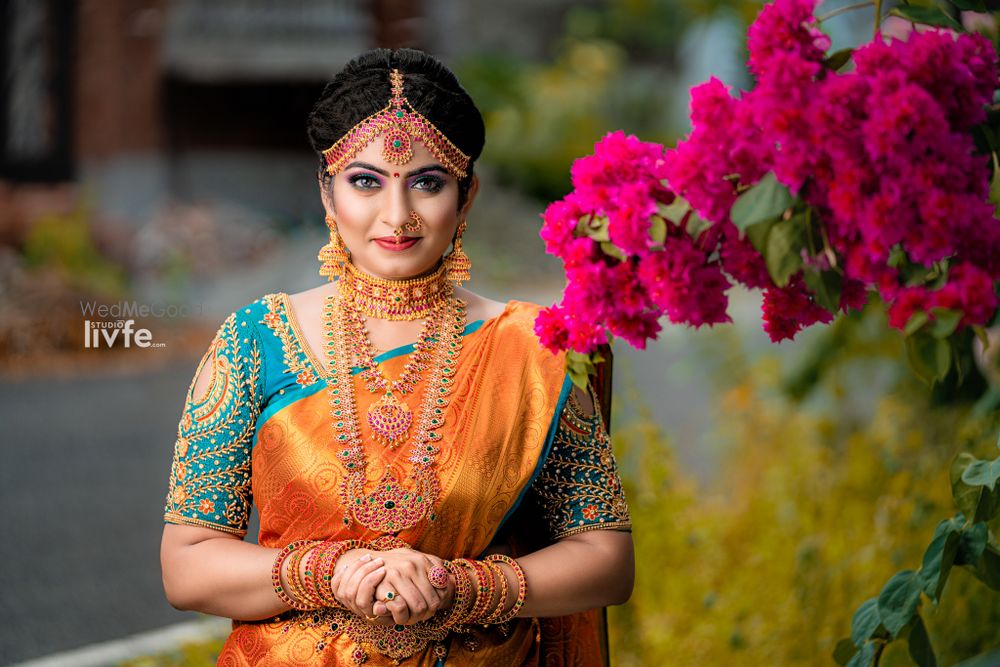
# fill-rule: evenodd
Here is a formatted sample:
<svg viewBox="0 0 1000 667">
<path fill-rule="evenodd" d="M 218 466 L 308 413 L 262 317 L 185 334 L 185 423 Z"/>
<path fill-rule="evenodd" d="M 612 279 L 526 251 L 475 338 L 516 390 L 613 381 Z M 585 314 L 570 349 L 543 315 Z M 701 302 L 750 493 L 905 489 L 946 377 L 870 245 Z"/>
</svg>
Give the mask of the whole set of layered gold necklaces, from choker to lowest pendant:
<svg viewBox="0 0 1000 667">
<path fill-rule="evenodd" d="M 367 289 L 365 299 L 357 299 L 355 284 L 340 284 L 337 296 L 327 297 L 323 311 L 324 334 L 327 341 L 327 357 L 333 369 L 328 383 L 328 395 L 334 443 L 341 447 L 339 459 L 345 468 L 341 484 L 341 502 L 345 508 L 344 524 L 350 526 L 353 520 L 382 533 L 395 534 L 411 528 L 424 518 L 433 521 L 434 505 L 440 488 L 435 463 L 440 453 L 441 427 L 444 425 L 445 409 L 450 403 L 454 385 L 454 374 L 462 349 L 462 334 L 465 330 L 465 303 L 452 297 L 451 284 L 445 280 L 442 285 L 438 273 L 425 278 L 407 281 L 382 281 L 367 276 L 354 269 L 352 272 L 363 282 L 380 281 L 408 283 L 409 293 L 421 299 L 419 304 L 395 301 L 399 291 L 395 289 L 378 292 Z M 443 275 L 443 274 L 442 274 Z M 430 285 L 414 285 L 429 282 Z M 424 299 L 427 290 L 436 285 L 434 299 Z M 368 287 L 368 285 L 366 285 Z M 415 291 L 416 290 L 416 291 Z M 384 303 L 384 298 L 392 299 Z M 378 303 L 374 303 L 378 301 Z M 365 304 L 365 305 L 361 305 Z M 365 317 L 373 315 L 366 305 L 374 305 L 377 312 L 391 306 L 399 312 L 420 312 L 426 317 L 420 339 L 414 345 L 410 360 L 399 379 L 389 382 L 375 363 L 371 342 L 365 330 Z M 358 421 L 351 377 L 352 362 L 357 359 L 363 369 L 363 379 L 368 391 L 385 391 L 368 410 L 368 422 L 376 441 L 395 447 L 409 439 L 411 442 L 409 462 L 412 465 L 408 483 L 401 482 L 403 475 L 393 471 L 391 466 L 380 478 L 375 490 L 366 494 L 368 461 Z M 410 408 L 402 403 L 396 393 L 404 395 L 412 392 L 420 381 L 420 375 L 428 371 L 427 387 L 420 406 L 419 416 L 414 418 Z M 411 426 L 416 429 L 410 434 Z"/>
</svg>

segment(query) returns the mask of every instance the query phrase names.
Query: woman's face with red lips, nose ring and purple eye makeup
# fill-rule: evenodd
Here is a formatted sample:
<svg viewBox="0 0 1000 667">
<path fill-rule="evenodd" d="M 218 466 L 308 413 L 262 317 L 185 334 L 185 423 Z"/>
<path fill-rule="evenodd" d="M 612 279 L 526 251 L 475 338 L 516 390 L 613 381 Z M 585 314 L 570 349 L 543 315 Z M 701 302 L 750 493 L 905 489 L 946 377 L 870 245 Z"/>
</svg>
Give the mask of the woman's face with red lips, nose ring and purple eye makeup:
<svg viewBox="0 0 1000 667">
<path fill-rule="evenodd" d="M 459 211 L 458 180 L 421 142 L 413 142 L 413 157 L 402 165 L 386 162 L 382 146 L 383 137 L 377 137 L 336 174 L 333 200 L 323 193 L 324 205 L 337 219 L 359 269 L 390 279 L 430 273 L 448 249 L 475 187 Z M 423 221 L 419 229 L 411 212 Z M 401 228 L 397 237 L 394 232 Z"/>
</svg>

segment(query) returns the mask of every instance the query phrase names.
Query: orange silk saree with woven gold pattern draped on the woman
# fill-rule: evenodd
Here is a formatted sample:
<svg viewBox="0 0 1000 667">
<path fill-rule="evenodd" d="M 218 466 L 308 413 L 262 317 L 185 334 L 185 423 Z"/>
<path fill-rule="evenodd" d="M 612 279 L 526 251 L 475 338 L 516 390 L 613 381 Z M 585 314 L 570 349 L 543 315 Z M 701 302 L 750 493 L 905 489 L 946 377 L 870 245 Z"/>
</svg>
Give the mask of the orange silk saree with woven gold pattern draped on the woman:
<svg viewBox="0 0 1000 667">
<path fill-rule="evenodd" d="M 379 537 L 357 521 L 345 527 L 340 498 L 343 467 L 333 444 L 329 378 L 313 356 L 288 310 L 287 296 L 263 299 L 271 317 L 268 326 L 284 326 L 285 359 L 298 346 L 300 382 L 282 390 L 257 419 L 251 451 L 252 495 L 260 516 L 259 543 L 280 548 L 299 539 L 363 539 Z M 250 312 L 249 310 L 247 311 Z M 473 323 L 463 337 L 451 404 L 441 427 L 441 453 L 436 469 L 440 495 L 434 520 L 424 519 L 398 537 L 414 549 L 442 558 L 477 558 L 487 550 L 537 541 L 518 534 L 516 509 L 551 447 L 558 415 L 570 383 L 564 357 L 543 349 L 533 331 L 537 306 L 510 302 L 504 312 Z M 261 320 L 258 320 L 261 321 Z M 263 329 L 263 327 L 261 327 Z M 265 331 L 266 333 L 266 331 Z M 276 346 L 277 347 L 277 346 Z M 409 346 L 377 358 L 387 377 L 398 377 Z M 267 351 L 265 350 L 265 353 Z M 276 354 L 282 354 L 281 351 Z M 287 365 L 287 364 L 286 364 Z M 314 373 L 315 378 L 309 373 Z M 357 412 L 365 414 L 373 396 L 354 378 Z M 420 405 L 426 383 L 408 400 Z M 360 419 L 365 442 L 366 420 Z M 407 445 L 393 451 L 366 447 L 371 492 L 391 469 L 404 485 L 411 464 Z M 527 524 L 525 524 L 527 525 Z M 494 543 L 498 531 L 512 535 L 514 544 Z M 524 528 L 523 530 L 530 530 Z M 528 586 L 531 581 L 529 579 Z M 344 627 L 331 627 L 322 612 L 288 612 L 264 621 L 234 621 L 233 632 L 219 657 L 225 666 L 351 665 L 358 645 Z M 430 644 L 394 663 L 367 647 L 366 665 L 602 665 L 603 626 L 599 611 L 561 619 L 515 619 L 506 635 L 495 629 L 474 637 L 451 635 L 447 656 L 435 657 Z M 471 649 L 475 650 L 471 650 Z"/>
</svg>

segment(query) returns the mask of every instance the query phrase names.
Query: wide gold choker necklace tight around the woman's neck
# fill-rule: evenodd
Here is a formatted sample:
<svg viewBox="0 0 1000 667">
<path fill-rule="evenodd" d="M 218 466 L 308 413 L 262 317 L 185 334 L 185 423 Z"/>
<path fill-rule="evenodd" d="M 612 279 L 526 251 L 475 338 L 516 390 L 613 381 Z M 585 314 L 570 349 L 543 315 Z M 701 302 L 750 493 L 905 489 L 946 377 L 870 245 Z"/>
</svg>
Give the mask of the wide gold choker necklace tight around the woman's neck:
<svg viewBox="0 0 1000 667">
<path fill-rule="evenodd" d="M 351 263 L 344 265 L 338 283 L 342 298 L 368 317 L 380 320 L 417 320 L 440 308 L 454 288 L 443 264 L 422 278 L 386 280 L 365 273 Z"/>
</svg>

